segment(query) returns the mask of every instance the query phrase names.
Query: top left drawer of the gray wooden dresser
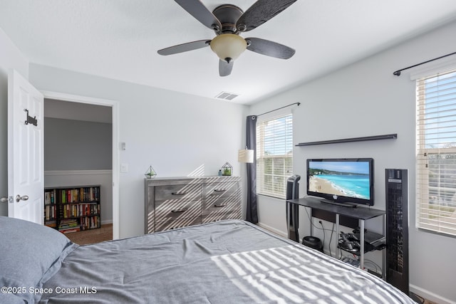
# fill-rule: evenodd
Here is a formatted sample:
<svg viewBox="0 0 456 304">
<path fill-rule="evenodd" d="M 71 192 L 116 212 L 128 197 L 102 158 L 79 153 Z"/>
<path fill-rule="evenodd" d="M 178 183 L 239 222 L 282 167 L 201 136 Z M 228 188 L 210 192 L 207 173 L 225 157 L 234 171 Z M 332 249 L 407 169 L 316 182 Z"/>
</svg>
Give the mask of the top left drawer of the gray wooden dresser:
<svg viewBox="0 0 456 304">
<path fill-rule="evenodd" d="M 155 187 L 155 204 L 160 201 L 199 201 L 201 184 L 173 184 Z"/>
</svg>

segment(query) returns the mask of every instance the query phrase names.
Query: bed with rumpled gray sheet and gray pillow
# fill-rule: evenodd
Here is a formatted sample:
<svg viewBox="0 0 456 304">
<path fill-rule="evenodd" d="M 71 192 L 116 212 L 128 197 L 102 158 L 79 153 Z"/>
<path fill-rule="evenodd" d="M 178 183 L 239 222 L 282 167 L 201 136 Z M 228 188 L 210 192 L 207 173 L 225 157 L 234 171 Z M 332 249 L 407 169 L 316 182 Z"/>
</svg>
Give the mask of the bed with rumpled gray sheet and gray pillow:
<svg viewBox="0 0 456 304">
<path fill-rule="evenodd" d="M 0 303 L 415 303 L 247 221 L 78 246 L 0 216 Z"/>
</svg>

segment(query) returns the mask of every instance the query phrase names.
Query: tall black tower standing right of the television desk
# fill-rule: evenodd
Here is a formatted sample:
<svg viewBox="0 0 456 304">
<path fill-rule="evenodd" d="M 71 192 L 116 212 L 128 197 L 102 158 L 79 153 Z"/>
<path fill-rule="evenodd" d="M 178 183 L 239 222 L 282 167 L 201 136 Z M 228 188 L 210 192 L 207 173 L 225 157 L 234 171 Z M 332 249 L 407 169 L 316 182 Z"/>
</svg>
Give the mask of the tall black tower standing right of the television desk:
<svg viewBox="0 0 456 304">
<path fill-rule="evenodd" d="M 385 169 L 386 281 L 409 294 L 408 170 Z"/>
</svg>

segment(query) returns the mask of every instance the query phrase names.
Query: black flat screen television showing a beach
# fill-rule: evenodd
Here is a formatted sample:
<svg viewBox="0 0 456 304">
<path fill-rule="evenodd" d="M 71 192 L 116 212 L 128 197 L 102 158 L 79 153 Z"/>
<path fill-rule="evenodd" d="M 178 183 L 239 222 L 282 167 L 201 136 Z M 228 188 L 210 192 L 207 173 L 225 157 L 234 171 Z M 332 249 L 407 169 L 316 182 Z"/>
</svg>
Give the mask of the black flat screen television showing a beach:
<svg viewBox="0 0 456 304">
<path fill-rule="evenodd" d="M 373 206 L 373 159 L 307 159 L 307 195 L 344 206 Z"/>
</svg>

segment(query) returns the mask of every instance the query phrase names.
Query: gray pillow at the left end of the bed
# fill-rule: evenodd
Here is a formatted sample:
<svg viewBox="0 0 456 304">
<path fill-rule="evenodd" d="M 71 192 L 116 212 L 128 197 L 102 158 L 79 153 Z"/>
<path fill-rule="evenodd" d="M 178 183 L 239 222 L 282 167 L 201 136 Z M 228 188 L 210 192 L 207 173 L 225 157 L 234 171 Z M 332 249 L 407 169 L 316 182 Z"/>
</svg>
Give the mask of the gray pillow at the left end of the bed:
<svg viewBox="0 0 456 304">
<path fill-rule="evenodd" d="M 33 303 L 28 288 L 40 288 L 76 247 L 55 229 L 0 216 L 0 286 L 25 287 L 26 293 L 16 295 Z"/>
</svg>

